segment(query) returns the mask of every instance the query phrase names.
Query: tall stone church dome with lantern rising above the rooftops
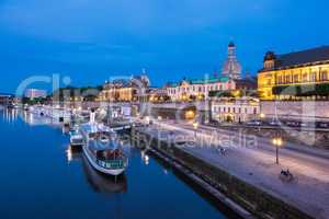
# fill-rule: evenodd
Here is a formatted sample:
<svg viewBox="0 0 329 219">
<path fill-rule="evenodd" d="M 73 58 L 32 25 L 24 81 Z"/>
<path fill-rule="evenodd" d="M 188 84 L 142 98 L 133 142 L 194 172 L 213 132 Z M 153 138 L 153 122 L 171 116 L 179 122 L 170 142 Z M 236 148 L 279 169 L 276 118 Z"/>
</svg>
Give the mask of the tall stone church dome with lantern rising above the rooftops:
<svg viewBox="0 0 329 219">
<path fill-rule="evenodd" d="M 241 79 L 241 65 L 236 56 L 236 46 L 232 42 L 228 44 L 228 56 L 223 66 L 222 74 L 230 79 Z"/>
</svg>

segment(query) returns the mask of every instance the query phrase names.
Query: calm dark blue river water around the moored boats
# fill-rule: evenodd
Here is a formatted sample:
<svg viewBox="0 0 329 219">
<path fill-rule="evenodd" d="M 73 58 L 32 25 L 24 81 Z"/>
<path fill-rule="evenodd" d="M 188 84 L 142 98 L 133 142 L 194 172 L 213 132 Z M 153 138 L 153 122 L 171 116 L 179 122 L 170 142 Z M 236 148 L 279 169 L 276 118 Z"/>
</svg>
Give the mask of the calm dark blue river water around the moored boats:
<svg viewBox="0 0 329 219">
<path fill-rule="evenodd" d="M 116 183 L 95 172 L 68 136 L 27 113 L 0 111 L 0 217 L 232 218 L 184 177 L 138 149 Z"/>
</svg>

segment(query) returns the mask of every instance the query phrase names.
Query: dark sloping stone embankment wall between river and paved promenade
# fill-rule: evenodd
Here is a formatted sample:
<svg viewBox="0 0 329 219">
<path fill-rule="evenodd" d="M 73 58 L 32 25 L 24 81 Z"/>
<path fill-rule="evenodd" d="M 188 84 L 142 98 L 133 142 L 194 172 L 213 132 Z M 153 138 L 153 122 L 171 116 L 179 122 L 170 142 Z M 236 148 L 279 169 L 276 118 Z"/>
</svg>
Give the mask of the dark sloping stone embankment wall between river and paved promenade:
<svg viewBox="0 0 329 219">
<path fill-rule="evenodd" d="M 192 155 L 185 150 L 174 147 L 167 141 L 157 139 L 150 140 L 150 136 L 133 130 L 135 139 L 150 142 L 150 147 L 156 150 L 170 154 L 177 162 L 191 170 L 194 174 L 202 177 L 224 193 L 258 218 L 271 219 L 309 219 L 310 216 L 302 212 L 294 206 L 287 205 L 283 200 L 269 195 L 262 189 L 254 187 L 242 180 L 231 175 L 226 170 L 222 170 L 211 163 Z"/>
</svg>

